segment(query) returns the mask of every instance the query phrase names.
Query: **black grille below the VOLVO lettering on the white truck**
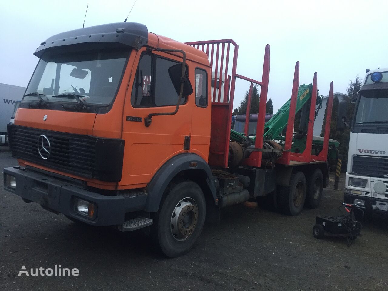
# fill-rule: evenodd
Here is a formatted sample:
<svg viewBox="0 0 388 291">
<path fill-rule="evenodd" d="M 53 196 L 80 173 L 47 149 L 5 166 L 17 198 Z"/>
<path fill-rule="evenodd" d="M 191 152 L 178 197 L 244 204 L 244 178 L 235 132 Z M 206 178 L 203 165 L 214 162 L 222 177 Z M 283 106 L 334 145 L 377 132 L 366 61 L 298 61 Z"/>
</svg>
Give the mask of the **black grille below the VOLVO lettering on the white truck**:
<svg viewBox="0 0 388 291">
<path fill-rule="evenodd" d="M 372 177 L 384 177 L 388 175 L 388 158 L 354 156 L 352 172 Z"/>
</svg>

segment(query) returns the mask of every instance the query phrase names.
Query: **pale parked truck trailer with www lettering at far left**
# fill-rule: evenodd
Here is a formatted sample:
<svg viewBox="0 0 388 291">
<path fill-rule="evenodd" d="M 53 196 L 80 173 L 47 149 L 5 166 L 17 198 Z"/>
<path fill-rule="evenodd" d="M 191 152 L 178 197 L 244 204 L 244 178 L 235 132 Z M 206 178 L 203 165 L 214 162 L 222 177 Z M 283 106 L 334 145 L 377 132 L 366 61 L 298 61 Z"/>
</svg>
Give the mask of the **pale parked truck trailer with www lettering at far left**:
<svg viewBox="0 0 388 291">
<path fill-rule="evenodd" d="M 0 83 L 0 145 L 8 145 L 7 125 L 25 91 L 24 87 Z"/>
</svg>

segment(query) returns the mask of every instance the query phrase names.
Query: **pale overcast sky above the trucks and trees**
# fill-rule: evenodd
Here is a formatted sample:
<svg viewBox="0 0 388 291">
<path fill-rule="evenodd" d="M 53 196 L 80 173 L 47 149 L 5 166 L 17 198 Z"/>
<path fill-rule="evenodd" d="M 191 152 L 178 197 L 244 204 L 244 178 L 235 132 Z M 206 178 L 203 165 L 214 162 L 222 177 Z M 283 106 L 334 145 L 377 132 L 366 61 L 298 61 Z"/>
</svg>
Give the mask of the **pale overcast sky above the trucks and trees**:
<svg viewBox="0 0 388 291">
<path fill-rule="evenodd" d="M 40 42 L 62 31 L 124 21 L 134 0 L 0 1 L 0 83 L 26 87 Z M 163 1 L 137 0 L 128 21 L 180 42 L 232 38 L 239 45 L 237 73 L 261 80 L 270 44 L 268 97 L 276 112 L 291 95 L 300 61 L 300 84 L 318 72 L 323 95 L 346 93 L 365 69 L 388 67 L 388 1 Z M 234 107 L 249 89 L 237 81 Z"/>
</svg>

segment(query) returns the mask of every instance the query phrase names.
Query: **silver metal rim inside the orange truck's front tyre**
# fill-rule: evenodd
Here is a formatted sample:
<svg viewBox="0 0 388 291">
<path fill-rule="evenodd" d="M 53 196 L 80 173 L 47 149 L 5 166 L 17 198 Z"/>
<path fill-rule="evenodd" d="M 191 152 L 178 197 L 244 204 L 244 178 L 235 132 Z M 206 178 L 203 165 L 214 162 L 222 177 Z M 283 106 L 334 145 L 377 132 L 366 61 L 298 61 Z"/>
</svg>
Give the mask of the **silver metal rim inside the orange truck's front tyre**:
<svg viewBox="0 0 388 291">
<path fill-rule="evenodd" d="M 191 236 L 197 226 L 198 207 L 191 197 L 185 197 L 175 206 L 171 215 L 171 234 L 177 241 Z"/>
</svg>

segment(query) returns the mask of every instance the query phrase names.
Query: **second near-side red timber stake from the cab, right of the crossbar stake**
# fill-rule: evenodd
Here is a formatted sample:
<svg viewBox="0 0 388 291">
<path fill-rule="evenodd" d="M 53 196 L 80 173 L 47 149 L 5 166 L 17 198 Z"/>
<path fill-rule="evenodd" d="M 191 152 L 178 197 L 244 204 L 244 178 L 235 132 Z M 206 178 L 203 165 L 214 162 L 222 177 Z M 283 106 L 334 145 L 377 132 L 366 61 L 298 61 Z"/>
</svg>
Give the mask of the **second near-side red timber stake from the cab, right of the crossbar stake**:
<svg viewBox="0 0 388 291">
<path fill-rule="evenodd" d="M 294 81 L 291 92 L 291 104 L 288 114 L 286 143 L 284 144 L 284 152 L 282 158 L 285 159 L 284 164 L 289 165 L 291 158 L 291 146 L 294 135 L 294 122 L 295 122 L 295 110 L 296 102 L 298 100 L 298 88 L 299 88 L 299 61 L 295 64 Z"/>
</svg>

